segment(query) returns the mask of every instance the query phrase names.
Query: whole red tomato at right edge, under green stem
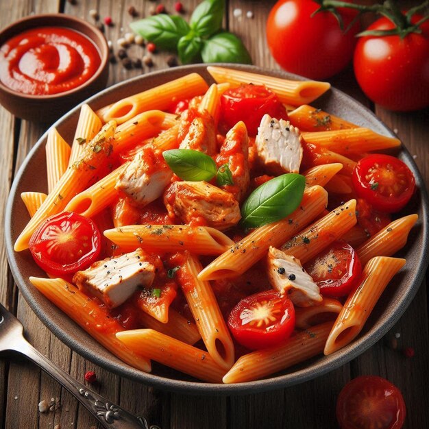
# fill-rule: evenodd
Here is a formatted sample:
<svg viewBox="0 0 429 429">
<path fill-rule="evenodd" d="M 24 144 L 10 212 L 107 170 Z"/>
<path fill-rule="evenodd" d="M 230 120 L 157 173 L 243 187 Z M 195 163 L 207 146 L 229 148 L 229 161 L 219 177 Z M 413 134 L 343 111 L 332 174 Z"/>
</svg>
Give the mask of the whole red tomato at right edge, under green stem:
<svg viewBox="0 0 429 429">
<path fill-rule="evenodd" d="M 411 20 L 417 23 L 422 16 Z M 369 30 L 393 29 L 387 18 Z M 429 22 L 421 34 L 365 36 L 354 51 L 354 74 L 360 88 L 375 103 L 391 110 L 415 110 L 429 106 Z"/>
</svg>

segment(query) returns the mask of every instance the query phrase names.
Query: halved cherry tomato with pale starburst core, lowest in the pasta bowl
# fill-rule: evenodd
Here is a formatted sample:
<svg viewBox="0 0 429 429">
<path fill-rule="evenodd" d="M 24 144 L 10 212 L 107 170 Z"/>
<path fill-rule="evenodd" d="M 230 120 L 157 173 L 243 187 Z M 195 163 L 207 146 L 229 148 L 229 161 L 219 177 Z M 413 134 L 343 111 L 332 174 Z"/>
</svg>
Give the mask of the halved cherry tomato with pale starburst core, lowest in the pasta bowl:
<svg viewBox="0 0 429 429">
<path fill-rule="evenodd" d="M 241 299 L 228 317 L 238 343 L 250 350 L 277 345 L 295 328 L 295 309 L 289 298 L 264 291 Z"/>
</svg>

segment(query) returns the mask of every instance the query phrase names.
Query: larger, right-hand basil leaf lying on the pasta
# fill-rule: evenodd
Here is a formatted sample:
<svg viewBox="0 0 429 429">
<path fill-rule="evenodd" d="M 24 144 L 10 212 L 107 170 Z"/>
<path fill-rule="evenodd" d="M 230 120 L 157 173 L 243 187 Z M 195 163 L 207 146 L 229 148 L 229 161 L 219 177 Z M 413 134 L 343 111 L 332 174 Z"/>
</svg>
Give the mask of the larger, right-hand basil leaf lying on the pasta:
<svg viewBox="0 0 429 429">
<path fill-rule="evenodd" d="M 256 228 L 284 219 L 301 204 L 305 186 L 305 177 L 295 173 L 258 186 L 241 207 L 241 223 L 245 228 Z"/>
</svg>

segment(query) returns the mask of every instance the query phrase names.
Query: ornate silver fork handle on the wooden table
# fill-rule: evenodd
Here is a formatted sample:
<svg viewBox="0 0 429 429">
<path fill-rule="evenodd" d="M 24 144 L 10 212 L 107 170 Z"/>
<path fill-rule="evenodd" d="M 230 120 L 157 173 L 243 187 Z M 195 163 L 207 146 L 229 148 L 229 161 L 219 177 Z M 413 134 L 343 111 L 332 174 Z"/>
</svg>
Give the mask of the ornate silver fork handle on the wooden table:
<svg viewBox="0 0 429 429">
<path fill-rule="evenodd" d="M 104 428 L 160 429 L 159 426 L 149 426 L 145 417 L 138 417 L 128 413 L 120 406 L 113 404 L 105 397 L 78 382 L 66 373 L 66 371 L 38 352 L 38 350 L 27 343 L 27 341 L 25 341 L 25 343 L 20 342 L 19 347 L 16 347 L 15 351 L 27 356 L 27 358 L 36 363 L 43 371 L 47 372 L 49 376 L 55 378 L 62 384 L 62 386 L 95 416 Z"/>
</svg>

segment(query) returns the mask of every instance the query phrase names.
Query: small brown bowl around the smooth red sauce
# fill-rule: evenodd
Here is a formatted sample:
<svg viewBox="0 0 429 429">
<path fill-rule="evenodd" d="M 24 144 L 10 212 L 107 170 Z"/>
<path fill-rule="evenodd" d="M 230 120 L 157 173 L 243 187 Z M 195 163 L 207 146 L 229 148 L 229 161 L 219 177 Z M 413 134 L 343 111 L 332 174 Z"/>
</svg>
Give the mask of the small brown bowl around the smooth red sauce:
<svg viewBox="0 0 429 429">
<path fill-rule="evenodd" d="M 38 122 L 52 122 L 77 103 L 106 88 L 109 75 L 109 48 L 103 34 L 86 21 L 64 14 L 27 16 L 0 32 L 0 47 L 10 38 L 36 27 L 66 27 L 84 34 L 97 47 L 101 64 L 95 74 L 84 84 L 64 93 L 53 95 L 27 95 L 17 93 L 0 82 L 0 104 L 16 117 Z"/>
</svg>

